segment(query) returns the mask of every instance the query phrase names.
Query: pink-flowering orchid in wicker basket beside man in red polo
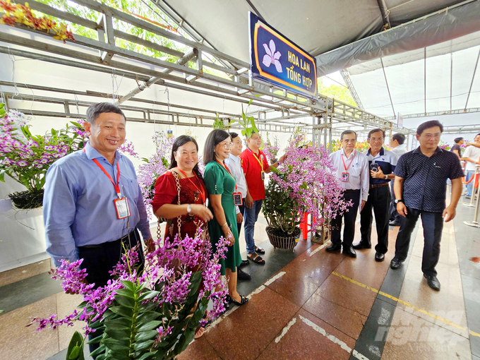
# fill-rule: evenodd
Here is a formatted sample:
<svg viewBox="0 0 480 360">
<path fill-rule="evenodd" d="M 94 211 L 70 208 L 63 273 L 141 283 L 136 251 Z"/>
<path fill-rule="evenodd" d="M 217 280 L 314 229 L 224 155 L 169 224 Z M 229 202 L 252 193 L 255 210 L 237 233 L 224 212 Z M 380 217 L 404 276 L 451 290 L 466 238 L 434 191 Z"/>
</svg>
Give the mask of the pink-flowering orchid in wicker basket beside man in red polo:
<svg viewBox="0 0 480 360">
<path fill-rule="evenodd" d="M 272 169 L 265 188 L 262 210 L 268 238 L 275 248 L 295 247 L 304 212 L 311 214 L 314 231 L 347 208 L 328 151 L 304 143 L 304 136 L 290 141 L 284 163 Z"/>
</svg>

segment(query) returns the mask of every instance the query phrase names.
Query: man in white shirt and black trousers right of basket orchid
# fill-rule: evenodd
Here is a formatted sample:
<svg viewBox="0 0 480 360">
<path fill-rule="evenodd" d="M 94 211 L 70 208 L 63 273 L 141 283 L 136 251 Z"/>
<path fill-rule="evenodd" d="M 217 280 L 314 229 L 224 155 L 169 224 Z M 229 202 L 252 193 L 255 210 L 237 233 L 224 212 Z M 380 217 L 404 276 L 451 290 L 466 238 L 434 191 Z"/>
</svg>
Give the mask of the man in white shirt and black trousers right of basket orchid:
<svg viewBox="0 0 480 360">
<path fill-rule="evenodd" d="M 368 186 L 370 179 L 370 170 L 368 169 L 367 157 L 355 150 L 356 133 L 347 130 L 340 136 L 342 150 L 332 152 L 330 158 L 337 169 L 337 177 L 340 184 L 345 189 L 343 200 L 349 202 L 352 200 L 352 207 L 342 215 L 337 215 L 332 219 L 332 244 L 326 248 L 326 251 L 333 253 L 339 251 L 343 246 L 343 253 L 352 258 L 356 258 L 356 252 L 352 248 L 352 242 L 355 235 L 356 212 L 364 208 L 368 198 Z M 342 228 L 342 217 L 344 218 L 343 241 L 340 239 L 340 229 Z"/>
</svg>

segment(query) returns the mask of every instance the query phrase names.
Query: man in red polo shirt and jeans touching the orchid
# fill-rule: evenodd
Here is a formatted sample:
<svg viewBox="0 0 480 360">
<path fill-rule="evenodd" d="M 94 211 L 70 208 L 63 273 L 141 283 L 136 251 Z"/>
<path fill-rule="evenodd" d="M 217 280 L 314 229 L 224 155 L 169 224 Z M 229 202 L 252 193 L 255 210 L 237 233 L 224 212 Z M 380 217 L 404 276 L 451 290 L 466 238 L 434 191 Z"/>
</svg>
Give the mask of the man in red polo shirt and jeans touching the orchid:
<svg viewBox="0 0 480 360">
<path fill-rule="evenodd" d="M 275 164 L 268 165 L 268 161 L 265 154 L 260 150 L 262 145 L 262 138 L 258 133 L 253 133 L 251 138 L 247 138 L 247 148 L 241 155 L 241 166 L 244 169 L 246 179 L 246 203 L 244 220 L 245 220 L 245 241 L 246 252 L 248 260 L 253 263 L 265 265 L 265 260 L 258 254 L 264 254 L 265 250 L 255 246 L 255 240 L 253 240 L 253 232 L 255 230 L 255 222 L 258 219 L 258 213 L 262 208 L 262 202 L 265 198 L 265 174 L 268 174 L 272 167 L 277 167 L 284 161 L 285 155 L 280 157 Z"/>
</svg>

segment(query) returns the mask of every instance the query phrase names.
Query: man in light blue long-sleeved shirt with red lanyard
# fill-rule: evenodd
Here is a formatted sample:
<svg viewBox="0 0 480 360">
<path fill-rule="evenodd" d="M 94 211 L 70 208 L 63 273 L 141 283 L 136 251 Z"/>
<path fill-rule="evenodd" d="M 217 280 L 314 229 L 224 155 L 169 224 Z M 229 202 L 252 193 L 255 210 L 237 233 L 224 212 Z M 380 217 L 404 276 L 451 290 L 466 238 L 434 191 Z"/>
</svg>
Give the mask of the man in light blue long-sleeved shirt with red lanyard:
<svg viewBox="0 0 480 360">
<path fill-rule="evenodd" d="M 151 247 L 152 236 L 133 164 L 117 151 L 126 135 L 124 113 L 107 102 L 92 105 L 84 127 L 90 136 L 85 148 L 47 172 L 45 236 L 55 266 L 62 258 L 83 258 L 88 282 L 102 287 L 121 257 L 121 242 L 140 244 L 139 229 Z M 138 253 L 143 262 L 141 244 Z"/>
</svg>

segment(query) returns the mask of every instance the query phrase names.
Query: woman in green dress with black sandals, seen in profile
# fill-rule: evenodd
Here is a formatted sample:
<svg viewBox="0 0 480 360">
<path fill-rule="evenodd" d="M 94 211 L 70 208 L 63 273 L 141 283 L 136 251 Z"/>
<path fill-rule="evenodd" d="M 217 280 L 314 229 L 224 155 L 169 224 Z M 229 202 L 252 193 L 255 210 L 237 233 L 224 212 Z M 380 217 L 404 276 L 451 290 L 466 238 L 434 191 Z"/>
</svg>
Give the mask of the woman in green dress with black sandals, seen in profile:
<svg viewBox="0 0 480 360">
<path fill-rule="evenodd" d="M 243 305 L 248 299 L 236 291 L 236 267 L 241 264 L 241 256 L 234 204 L 235 178 L 224 163 L 229 157 L 230 148 L 232 139 L 227 131 L 216 129 L 208 134 L 203 151 L 203 179 L 209 193 L 208 208 L 214 215 L 213 220 L 208 222 L 212 248 L 216 250 L 221 236 L 230 244 L 227 246 L 227 258 L 220 260 L 222 275 L 227 275 L 229 279 L 227 300 L 235 305 Z"/>
</svg>

